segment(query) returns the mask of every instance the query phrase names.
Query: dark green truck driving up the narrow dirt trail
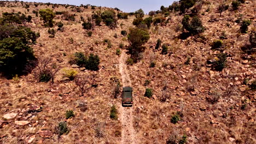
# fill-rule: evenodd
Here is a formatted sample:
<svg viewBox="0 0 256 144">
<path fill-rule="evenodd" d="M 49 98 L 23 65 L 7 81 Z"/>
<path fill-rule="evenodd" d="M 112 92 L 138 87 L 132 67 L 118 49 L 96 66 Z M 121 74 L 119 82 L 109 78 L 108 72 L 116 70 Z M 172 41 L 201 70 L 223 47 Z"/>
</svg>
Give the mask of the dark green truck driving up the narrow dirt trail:
<svg viewBox="0 0 256 144">
<path fill-rule="evenodd" d="M 132 87 L 123 87 L 122 106 L 132 106 Z"/>
</svg>

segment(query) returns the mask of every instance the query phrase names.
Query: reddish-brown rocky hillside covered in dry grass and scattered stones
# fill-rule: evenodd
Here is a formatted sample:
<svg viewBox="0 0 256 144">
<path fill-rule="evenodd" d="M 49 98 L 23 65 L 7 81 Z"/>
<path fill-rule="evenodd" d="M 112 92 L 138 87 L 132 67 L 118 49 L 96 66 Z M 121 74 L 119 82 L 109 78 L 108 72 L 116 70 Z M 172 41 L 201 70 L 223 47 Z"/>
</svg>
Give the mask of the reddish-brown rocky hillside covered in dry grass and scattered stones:
<svg viewBox="0 0 256 144">
<path fill-rule="evenodd" d="M 133 65 L 124 65 L 117 49 L 123 44 L 121 56 L 130 56 L 125 50 L 130 43 L 121 31 L 129 33 L 129 28 L 135 27 L 134 15 L 127 20 L 118 19 L 114 29 L 101 22 L 101 26 L 90 30 L 89 37 L 81 17 L 87 20 L 97 10 L 109 8 L 58 5 L 53 9 L 53 4 L 38 3 L 36 7 L 35 3 L 1 2 L 1 14 L 20 11 L 32 16 L 32 21 L 24 25 L 40 33 L 37 43 L 32 45 L 34 55 L 51 58 L 51 63 L 59 65 L 60 70 L 54 83 L 38 82 L 33 73 L 12 80 L 0 78 L 0 143 L 129 143 L 122 134 L 131 134 L 128 138 L 133 143 L 167 143 L 182 136 L 187 143 L 255 143 L 256 95 L 249 86 L 256 78 L 256 55 L 245 52 L 243 47 L 251 45 L 249 35 L 255 31 L 256 3 L 246 1 L 238 10 L 229 8 L 220 16 L 217 9 L 221 3 L 203 3 L 198 17 L 205 31 L 187 39 L 180 39 L 184 15 L 170 13 L 164 25 L 159 23 L 149 28 L 150 39 L 144 45 L 141 59 Z M 231 5 L 231 1 L 226 3 Z M 64 29 L 57 31 L 55 38 L 49 38 L 49 28 L 33 13 L 46 8 L 68 11 L 75 14 L 75 20 L 56 15 L 55 23 L 61 21 Z M 241 24 L 235 22 L 240 14 L 242 20 L 251 20 L 248 33 L 241 33 Z M 213 41 L 221 36 L 225 36 L 222 49 L 211 49 Z M 106 39 L 111 46 L 104 43 Z M 162 46 L 155 49 L 158 39 L 168 47 L 167 55 L 162 55 Z M 70 64 L 75 52 L 98 55 L 99 70 Z M 228 55 L 222 71 L 207 63 L 218 59 L 219 53 Z M 152 63 L 154 67 L 150 67 Z M 120 67 L 124 66 L 127 68 L 122 73 Z M 81 95 L 75 82 L 65 79 L 67 69 L 77 71 L 78 75 L 95 75 L 93 84 L 97 86 L 86 85 L 86 92 Z M 117 83 L 125 86 L 127 77 L 135 98 L 131 108 L 121 107 L 120 92 L 114 97 Z M 144 97 L 146 88 L 152 88 L 152 98 Z M 109 116 L 113 105 L 117 107 L 114 119 Z M 67 119 L 67 110 L 73 110 L 74 117 Z M 124 122 L 129 117 L 131 123 Z M 175 119 L 179 121 L 174 124 Z M 19 124 L 21 121 L 28 123 Z M 59 122 L 67 123 L 68 134 L 58 135 Z M 128 127 L 132 128 L 126 131 Z"/>
</svg>

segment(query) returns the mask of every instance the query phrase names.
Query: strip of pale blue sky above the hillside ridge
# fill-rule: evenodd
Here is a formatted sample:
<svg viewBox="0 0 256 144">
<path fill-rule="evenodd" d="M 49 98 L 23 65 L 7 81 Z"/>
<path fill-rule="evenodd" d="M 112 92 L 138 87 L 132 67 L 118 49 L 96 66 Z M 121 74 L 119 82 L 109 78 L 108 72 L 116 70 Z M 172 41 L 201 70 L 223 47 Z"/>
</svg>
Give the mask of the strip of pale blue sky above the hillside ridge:
<svg viewBox="0 0 256 144">
<path fill-rule="evenodd" d="M 23 0 L 24 1 L 24 0 Z M 26 1 L 26 0 L 25 0 Z M 25 2 L 24 1 L 24 2 Z M 161 5 L 168 7 L 174 0 L 28 0 L 26 2 L 43 2 L 43 3 L 59 3 L 59 4 L 91 4 L 109 8 L 119 8 L 124 12 L 133 12 L 138 9 L 143 9 L 144 13 L 151 10 L 159 10 Z M 178 1 L 178 0 L 176 0 Z"/>
</svg>

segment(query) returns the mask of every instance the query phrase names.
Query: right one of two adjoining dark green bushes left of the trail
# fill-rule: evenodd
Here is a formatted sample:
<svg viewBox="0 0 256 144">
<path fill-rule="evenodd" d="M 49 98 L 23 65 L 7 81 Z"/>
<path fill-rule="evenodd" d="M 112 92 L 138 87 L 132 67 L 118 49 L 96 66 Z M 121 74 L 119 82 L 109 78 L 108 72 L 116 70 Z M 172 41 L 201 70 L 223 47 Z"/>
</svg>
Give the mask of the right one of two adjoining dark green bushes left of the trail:
<svg viewBox="0 0 256 144">
<path fill-rule="evenodd" d="M 88 70 L 98 70 L 98 65 L 100 64 L 100 58 L 98 55 L 90 53 L 90 56 L 85 64 L 85 68 Z"/>
</svg>

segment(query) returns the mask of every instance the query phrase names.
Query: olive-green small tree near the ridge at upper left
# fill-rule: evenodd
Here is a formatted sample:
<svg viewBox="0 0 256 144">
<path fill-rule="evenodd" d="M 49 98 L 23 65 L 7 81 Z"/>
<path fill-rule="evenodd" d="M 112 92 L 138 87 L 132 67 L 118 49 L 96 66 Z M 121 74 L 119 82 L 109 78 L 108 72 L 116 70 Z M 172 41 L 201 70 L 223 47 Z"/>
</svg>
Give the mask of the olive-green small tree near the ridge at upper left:
<svg viewBox="0 0 256 144">
<path fill-rule="evenodd" d="M 39 14 L 41 19 L 44 21 L 45 27 L 53 27 L 53 19 L 55 17 L 55 14 L 53 13 L 53 10 L 51 9 L 40 9 Z"/>
</svg>

